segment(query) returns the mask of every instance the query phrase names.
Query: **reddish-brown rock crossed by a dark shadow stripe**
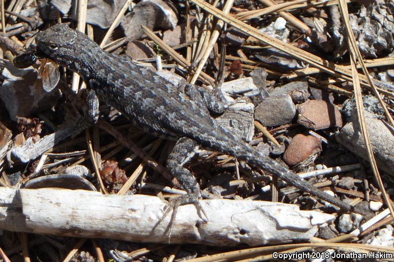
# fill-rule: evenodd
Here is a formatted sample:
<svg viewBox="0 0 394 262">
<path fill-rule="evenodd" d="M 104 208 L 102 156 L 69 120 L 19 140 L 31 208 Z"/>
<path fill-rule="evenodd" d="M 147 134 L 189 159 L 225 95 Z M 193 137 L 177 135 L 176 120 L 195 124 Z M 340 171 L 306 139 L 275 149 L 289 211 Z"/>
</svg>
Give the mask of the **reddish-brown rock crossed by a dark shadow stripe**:
<svg viewBox="0 0 394 262">
<path fill-rule="evenodd" d="M 298 123 L 313 129 L 341 127 L 342 116 L 338 108 L 323 100 L 309 100 L 298 106 Z"/>
</svg>

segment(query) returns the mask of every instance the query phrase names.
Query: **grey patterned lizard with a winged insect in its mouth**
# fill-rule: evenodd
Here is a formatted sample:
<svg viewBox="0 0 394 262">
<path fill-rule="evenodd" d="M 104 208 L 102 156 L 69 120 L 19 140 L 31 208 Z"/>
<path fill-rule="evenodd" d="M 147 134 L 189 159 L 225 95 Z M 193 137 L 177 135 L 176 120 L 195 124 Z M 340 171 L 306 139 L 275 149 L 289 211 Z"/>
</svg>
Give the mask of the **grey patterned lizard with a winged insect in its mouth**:
<svg viewBox="0 0 394 262">
<path fill-rule="evenodd" d="M 76 72 L 90 87 L 87 101 L 96 105 L 89 110 L 93 122 L 98 119 L 100 101 L 117 109 L 148 133 L 176 141 L 166 166 L 188 194 L 168 201 L 167 209 L 172 209 L 173 215 L 176 208 L 184 204 L 195 204 L 198 211 L 203 212 L 199 204 L 201 191 L 197 179 L 184 167 L 200 147 L 233 156 L 324 201 L 348 211 L 360 212 L 315 188 L 216 124 L 210 110 L 214 111 L 216 107 L 220 112 L 224 108 L 212 102 L 215 98 L 206 95 L 205 88 L 188 85 L 181 91 L 156 72 L 137 66 L 131 59 L 103 51 L 86 34 L 70 29 L 66 24 L 42 30 L 35 39 L 39 57 L 55 60 Z"/>
</svg>

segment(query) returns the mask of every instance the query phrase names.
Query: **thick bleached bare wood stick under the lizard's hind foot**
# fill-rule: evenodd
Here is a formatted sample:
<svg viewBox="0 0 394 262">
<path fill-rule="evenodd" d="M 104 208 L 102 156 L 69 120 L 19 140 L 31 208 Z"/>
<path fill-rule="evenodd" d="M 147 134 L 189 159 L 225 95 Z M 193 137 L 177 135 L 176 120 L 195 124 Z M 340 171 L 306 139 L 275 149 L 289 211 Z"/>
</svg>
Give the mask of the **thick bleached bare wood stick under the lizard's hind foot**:
<svg viewBox="0 0 394 262">
<path fill-rule="evenodd" d="M 1 229 L 159 243 L 222 246 L 301 241 L 335 219 L 329 214 L 299 210 L 293 204 L 206 200 L 200 202 L 208 223 L 199 218 L 194 205 L 180 206 L 169 234 L 170 216 L 156 225 L 165 206 L 157 197 L 2 187 L 0 199 Z"/>
</svg>

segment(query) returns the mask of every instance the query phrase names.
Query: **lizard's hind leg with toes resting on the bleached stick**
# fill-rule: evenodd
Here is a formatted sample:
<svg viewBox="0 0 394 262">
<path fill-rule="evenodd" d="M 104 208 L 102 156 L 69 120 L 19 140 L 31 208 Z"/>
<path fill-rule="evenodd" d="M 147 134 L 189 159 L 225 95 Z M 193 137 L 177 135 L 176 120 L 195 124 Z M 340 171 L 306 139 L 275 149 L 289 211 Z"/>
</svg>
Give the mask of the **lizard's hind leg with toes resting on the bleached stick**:
<svg viewBox="0 0 394 262">
<path fill-rule="evenodd" d="M 200 187 L 194 175 L 187 170 L 184 165 L 196 155 L 198 149 L 197 142 L 186 137 L 180 138 L 167 159 L 167 168 L 178 179 L 179 183 L 187 191 L 187 195 L 171 198 L 165 206 L 164 217 L 172 209 L 172 216 L 170 224 L 175 220 L 177 208 L 180 205 L 194 204 L 197 208 L 198 216 L 207 221 L 207 216 L 202 209 L 199 199 L 201 199 Z M 202 217 L 201 213 L 205 216 Z M 172 225 L 170 225 L 172 227 Z"/>
</svg>

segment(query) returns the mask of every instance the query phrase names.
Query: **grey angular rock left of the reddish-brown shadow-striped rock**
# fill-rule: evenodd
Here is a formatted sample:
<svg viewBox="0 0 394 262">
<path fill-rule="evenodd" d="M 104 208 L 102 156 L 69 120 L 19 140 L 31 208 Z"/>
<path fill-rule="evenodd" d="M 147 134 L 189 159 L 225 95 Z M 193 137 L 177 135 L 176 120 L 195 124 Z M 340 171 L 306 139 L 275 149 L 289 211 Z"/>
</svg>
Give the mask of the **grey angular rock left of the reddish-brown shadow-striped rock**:
<svg viewBox="0 0 394 262">
<path fill-rule="evenodd" d="M 296 115 L 296 106 L 288 94 L 268 97 L 255 110 L 255 118 L 264 126 L 290 123 Z"/>
</svg>

